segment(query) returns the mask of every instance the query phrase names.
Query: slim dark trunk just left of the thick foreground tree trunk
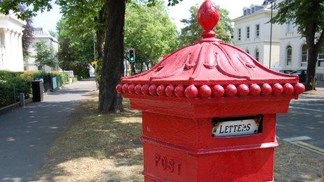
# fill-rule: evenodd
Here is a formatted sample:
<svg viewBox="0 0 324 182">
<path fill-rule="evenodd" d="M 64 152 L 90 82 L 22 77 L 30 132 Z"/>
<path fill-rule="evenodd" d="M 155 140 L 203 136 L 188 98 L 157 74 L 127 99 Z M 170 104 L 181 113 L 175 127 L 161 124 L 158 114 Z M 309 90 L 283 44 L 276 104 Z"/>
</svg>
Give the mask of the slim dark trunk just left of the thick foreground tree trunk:
<svg viewBox="0 0 324 182">
<path fill-rule="evenodd" d="M 103 59 L 103 43 L 105 40 L 105 30 L 102 27 L 105 27 L 105 6 L 101 8 L 96 17 L 97 30 L 96 30 L 96 52 L 98 52 L 98 59 Z"/>
</svg>

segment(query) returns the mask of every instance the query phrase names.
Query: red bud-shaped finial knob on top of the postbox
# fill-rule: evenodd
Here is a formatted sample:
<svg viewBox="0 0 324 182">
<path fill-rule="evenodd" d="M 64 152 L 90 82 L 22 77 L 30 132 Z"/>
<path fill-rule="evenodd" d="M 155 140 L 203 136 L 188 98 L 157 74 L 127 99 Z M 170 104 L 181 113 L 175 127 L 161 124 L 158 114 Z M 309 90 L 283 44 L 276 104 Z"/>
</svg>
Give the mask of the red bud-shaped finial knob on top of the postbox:
<svg viewBox="0 0 324 182">
<path fill-rule="evenodd" d="M 198 22 L 204 29 L 202 37 L 211 38 L 216 35 L 213 29 L 219 23 L 219 10 L 212 1 L 202 3 L 198 11 Z"/>
</svg>

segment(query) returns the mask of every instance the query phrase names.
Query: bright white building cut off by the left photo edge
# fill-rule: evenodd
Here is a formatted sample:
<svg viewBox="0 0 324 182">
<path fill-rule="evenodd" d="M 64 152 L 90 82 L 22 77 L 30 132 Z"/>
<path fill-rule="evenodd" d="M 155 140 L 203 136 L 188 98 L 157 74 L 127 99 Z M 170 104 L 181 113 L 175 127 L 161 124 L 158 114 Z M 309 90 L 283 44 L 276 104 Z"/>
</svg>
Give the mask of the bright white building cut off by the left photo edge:
<svg viewBox="0 0 324 182">
<path fill-rule="evenodd" d="M 26 22 L 0 14 L 0 70 L 23 71 L 22 31 Z"/>
</svg>

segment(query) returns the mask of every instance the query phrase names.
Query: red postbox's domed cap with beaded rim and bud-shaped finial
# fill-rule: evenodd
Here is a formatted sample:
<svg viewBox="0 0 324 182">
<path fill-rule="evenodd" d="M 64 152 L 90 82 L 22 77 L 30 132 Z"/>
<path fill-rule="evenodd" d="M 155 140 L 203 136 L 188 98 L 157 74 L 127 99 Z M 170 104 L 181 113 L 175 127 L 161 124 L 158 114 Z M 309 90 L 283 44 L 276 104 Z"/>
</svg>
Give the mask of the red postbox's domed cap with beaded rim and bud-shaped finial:
<svg viewBox="0 0 324 182">
<path fill-rule="evenodd" d="M 295 75 L 277 73 L 234 45 L 215 38 L 219 11 L 207 0 L 198 11 L 202 38 L 182 47 L 151 70 L 121 78 L 126 94 L 209 98 L 222 96 L 295 95 L 304 92 Z"/>
</svg>

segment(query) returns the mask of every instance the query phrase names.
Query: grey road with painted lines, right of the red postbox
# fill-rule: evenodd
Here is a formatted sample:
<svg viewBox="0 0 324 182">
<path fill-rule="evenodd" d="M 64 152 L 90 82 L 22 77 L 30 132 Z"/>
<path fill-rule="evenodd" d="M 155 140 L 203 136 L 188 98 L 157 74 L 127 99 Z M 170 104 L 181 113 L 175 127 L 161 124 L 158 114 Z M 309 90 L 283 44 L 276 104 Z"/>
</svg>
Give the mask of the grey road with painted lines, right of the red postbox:
<svg viewBox="0 0 324 182">
<path fill-rule="evenodd" d="M 324 91 L 324 82 L 318 82 Z M 277 135 L 286 142 L 304 142 L 324 151 L 324 95 L 302 95 L 293 100 L 289 113 L 278 116 Z"/>
</svg>

